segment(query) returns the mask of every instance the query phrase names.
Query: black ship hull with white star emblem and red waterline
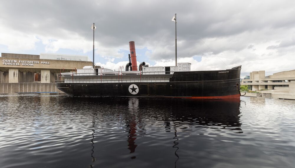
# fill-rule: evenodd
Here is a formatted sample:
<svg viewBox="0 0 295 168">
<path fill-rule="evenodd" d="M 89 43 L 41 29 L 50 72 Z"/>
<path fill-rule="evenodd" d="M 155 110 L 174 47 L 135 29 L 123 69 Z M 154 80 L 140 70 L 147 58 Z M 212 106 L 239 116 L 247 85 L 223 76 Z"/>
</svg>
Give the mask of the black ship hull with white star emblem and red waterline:
<svg viewBox="0 0 295 168">
<path fill-rule="evenodd" d="M 241 66 L 222 71 L 174 72 L 169 82 L 67 83 L 57 88 L 68 95 L 240 99 Z"/>
</svg>

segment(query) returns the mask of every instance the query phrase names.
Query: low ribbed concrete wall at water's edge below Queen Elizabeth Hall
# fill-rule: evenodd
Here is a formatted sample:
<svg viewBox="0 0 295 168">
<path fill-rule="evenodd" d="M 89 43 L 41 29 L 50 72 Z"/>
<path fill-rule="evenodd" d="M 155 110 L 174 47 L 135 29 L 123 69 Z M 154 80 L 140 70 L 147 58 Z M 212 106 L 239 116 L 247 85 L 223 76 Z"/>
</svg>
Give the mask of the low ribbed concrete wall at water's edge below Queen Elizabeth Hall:
<svg viewBox="0 0 295 168">
<path fill-rule="evenodd" d="M 61 92 L 55 83 L 0 83 L 0 93 Z M 62 92 L 61 92 L 62 93 Z"/>
</svg>

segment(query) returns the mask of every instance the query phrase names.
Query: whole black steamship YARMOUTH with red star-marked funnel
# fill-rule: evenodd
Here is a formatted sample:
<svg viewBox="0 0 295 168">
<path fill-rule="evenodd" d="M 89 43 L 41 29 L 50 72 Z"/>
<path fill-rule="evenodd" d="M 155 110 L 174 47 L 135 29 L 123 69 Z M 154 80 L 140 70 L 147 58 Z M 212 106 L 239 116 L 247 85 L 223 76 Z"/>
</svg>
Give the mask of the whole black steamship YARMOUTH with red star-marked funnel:
<svg viewBox="0 0 295 168">
<path fill-rule="evenodd" d="M 68 95 L 99 97 L 166 97 L 188 99 L 240 99 L 241 66 L 213 71 L 191 71 L 190 63 L 137 67 L 135 42 L 130 41 L 129 62 L 118 71 L 85 66 L 60 73 L 56 86 Z"/>
</svg>

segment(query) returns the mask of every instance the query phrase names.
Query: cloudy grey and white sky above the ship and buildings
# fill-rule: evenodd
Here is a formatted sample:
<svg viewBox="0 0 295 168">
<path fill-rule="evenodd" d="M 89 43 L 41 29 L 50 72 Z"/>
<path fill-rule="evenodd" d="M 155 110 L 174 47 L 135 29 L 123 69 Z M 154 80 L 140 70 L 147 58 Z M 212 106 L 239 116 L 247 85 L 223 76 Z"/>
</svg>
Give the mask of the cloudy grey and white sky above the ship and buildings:
<svg viewBox="0 0 295 168">
<path fill-rule="evenodd" d="M 0 52 L 86 55 L 118 69 L 128 62 L 129 41 L 137 61 L 191 70 L 242 65 L 266 75 L 295 69 L 295 1 L 272 0 L 10 0 L 0 4 Z"/>
</svg>

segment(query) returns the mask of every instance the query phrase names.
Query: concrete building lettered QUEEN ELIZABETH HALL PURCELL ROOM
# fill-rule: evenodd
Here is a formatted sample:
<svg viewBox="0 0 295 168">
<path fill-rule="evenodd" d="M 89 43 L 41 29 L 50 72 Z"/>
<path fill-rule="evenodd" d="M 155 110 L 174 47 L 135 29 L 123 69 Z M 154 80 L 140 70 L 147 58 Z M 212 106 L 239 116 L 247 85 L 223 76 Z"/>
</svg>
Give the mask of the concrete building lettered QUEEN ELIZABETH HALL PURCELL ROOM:
<svg viewBox="0 0 295 168">
<path fill-rule="evenodd" d="M 59 92 L 55 87 L 58 74 L 83 66 L 92 66 L 88 56 L 1 53 L 0 93 Z"/>
</svg>

